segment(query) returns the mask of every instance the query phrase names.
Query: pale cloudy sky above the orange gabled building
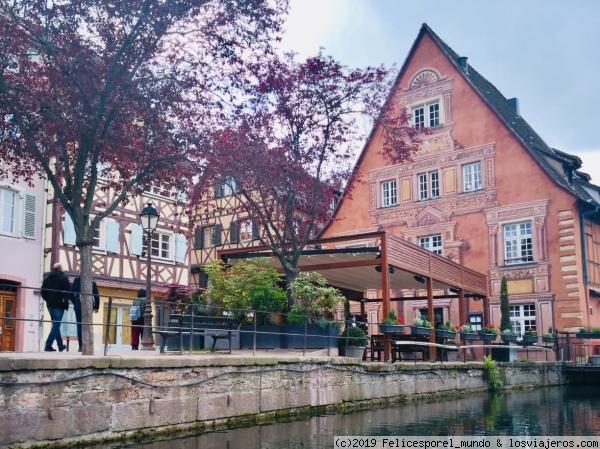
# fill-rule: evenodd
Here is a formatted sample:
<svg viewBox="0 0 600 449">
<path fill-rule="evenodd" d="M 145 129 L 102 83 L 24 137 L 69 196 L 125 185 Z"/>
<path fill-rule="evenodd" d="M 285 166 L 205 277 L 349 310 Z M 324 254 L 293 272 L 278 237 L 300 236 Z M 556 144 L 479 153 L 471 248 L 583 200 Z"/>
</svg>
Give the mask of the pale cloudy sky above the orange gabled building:
<svg viewBox="0 0 600 449">
<path fill-rule="evenodd" d="M 423 23 L 600 185 L 598 0 L 291 0 L 282 45 L 399 70 Z"/>
</svg>

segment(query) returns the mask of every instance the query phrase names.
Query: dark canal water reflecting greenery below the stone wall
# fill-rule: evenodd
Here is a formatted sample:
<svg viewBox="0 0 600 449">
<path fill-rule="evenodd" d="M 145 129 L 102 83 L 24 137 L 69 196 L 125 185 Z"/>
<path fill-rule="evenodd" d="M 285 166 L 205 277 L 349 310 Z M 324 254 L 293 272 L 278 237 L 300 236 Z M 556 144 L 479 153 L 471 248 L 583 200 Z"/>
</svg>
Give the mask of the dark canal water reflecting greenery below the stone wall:
<svg viewBox="0 0 600 449">
<path fill-rule="evenodd" d="M 598 436 L 600 387 L 550 387 L 438 399 L 102 449 L 323 449 L 334 447 L 334 436 L 352 435 Z"/>
</svg>

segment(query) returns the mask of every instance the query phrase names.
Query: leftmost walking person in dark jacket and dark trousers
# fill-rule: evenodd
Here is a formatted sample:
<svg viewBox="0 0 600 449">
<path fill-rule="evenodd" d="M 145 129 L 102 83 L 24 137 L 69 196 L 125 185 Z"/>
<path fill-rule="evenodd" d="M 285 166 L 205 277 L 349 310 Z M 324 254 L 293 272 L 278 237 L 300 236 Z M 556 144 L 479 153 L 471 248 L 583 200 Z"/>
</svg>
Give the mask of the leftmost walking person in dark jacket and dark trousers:
<svg viewBox="0 0 600 449">
<path fill-rule="evenodd" d="M 65 350 L 65 344 L 60 335 L 60 324 L 65 310 L 69 308 L 69 302 L 65 299 L 65 295 L 70 288 L 71 283 L 67 275 L 63 273 L 61 264 L 55 263 L 50 274 L 42 282 L 42 298 L 46 301 L 46 307 L 48 307 L 52 320 L 52 328 L 46 339 L 44 351 L 56 351 L 52 347 L 54 340 L 56 340 L 59 351 Z"/>
</svg>

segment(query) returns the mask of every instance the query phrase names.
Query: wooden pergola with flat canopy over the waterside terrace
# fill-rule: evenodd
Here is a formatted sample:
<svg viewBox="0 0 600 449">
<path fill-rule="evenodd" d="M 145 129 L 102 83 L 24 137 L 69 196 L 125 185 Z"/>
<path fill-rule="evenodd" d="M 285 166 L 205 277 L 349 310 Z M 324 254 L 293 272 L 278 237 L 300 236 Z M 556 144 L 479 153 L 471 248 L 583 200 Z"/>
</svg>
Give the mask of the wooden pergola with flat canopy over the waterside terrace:
<svg viewBox="0 0 600 449">
<path fill-rule="evenodd" d="M 279 260 L 265 246 L 223 250 L 218 252 L 218 257 L 229 264 L 243 259 L 268 257 L 272 260 L 272 266 L 281 270 Z M 380 268 L 377 268 L 378 266 Z M 457 292 L 456 297 L 459 299 L 461 323 L 467 322 L 466 301 L 469 297 L 483 299 L 483 318 L 484 322 L 488 322 L 486 275 L 387 232 L 312 240 L 302 252 L 298 267 L 300 271 L 322 274 L 330 285 L 345 292 L 354 292 L 356 300 L 361 300 L 366 290 L 381 290 L 384 317 L 387 317 L 390 310 L 390 290 L 424 289 L 427 291 L 428 319 L 433 322 L 434 299 L 441 298 L 434 297 L 434 290 L 452 289 Z M 364 313 L 364 301 L 361 302 L 361 307 Z M 430 341 L 435 342 L 434 333 L 431 334 Z M 385 352 L 387 360 L 389 346 Z"/>
</svg>

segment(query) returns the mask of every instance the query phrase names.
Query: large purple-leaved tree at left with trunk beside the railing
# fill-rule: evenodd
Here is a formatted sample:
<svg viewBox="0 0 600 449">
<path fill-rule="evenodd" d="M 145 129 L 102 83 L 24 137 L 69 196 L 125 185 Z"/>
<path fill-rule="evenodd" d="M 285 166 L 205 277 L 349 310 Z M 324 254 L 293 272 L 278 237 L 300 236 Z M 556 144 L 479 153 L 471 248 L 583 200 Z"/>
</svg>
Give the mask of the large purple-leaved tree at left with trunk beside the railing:
<svg viewBox="0 0 600 449">
<path fill-rule="evenodd" d="M 188 128 L 221 114 L 286 3 L 0 0 L 0 178 L 45 177 L 71 217 L 84 323 L 93 229 L 151 180 L 184 190 L 202 172 Z M 96 189 L 113 200 L 90 219 Z M 91 326 L 83 339 L 93 354 Z"/>
</svg>

